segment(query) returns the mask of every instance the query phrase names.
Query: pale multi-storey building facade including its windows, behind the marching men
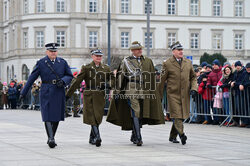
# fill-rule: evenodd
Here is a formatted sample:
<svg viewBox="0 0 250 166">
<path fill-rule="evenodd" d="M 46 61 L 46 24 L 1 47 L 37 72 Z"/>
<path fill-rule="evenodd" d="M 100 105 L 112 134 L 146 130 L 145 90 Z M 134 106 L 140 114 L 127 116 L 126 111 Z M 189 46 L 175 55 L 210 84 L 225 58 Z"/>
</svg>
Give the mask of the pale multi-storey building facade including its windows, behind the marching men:
<svg viewBox="0 0 250 166">
<path fill-rule="evenodd" d="M 162 64 L 180 41 L 194 64 L 204 52 L 250 61 L 249 0 L 151 0 L 149 41 L 147 0 L 110 1 L 111 56 L 129 55 L 138 40 Z M 0 0 L 0 78 L 27 79 L 48 42 L 59 43 L 59 56 L 77 69 L 91 61 L 91 48 L 107 53 L 107 11 L 108 0 Z"/>
</svg>

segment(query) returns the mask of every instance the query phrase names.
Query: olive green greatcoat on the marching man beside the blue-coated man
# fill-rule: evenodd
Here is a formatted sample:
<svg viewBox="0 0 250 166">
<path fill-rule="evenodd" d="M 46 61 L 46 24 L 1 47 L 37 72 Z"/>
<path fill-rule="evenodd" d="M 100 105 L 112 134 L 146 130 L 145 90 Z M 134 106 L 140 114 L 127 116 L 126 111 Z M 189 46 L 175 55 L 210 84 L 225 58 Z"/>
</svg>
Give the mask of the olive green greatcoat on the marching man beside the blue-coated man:
<svg viewBox="0 0 250 166">
<path fill-rule="evenodd" d="M 83 123 L 98 126 L 102 122 L 105 106 L 105 92 L 98 90 L 104 88 L 105 82 L 113 78 L 110 68 L 106 65 L 100 64 L 96 67 L 92 61 L 88 65 L 83 65 L 81 72 L 70 86 L 66 96 L 73 95 L 83 80 L 86 83 L 86 89 L 83 92 Z M 97 89 L 97 90 L 94 90 Z"/>
</svg>

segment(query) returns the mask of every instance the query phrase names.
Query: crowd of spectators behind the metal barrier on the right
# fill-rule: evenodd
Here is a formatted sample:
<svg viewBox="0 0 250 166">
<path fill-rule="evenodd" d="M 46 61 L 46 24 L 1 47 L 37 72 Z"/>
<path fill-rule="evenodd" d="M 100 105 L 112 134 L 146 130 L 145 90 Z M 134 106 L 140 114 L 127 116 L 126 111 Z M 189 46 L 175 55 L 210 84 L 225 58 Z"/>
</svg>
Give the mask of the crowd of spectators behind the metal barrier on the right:
<svg viewBox="0 0 250 166">
<path fill-rule="evenodd" d="M 192 111 L 203 114 L 195 122 L 250 127 L 250 63 L 221 65 L 216 59 L 212 65 L 203 62 L 195 72 L 199 95 Z M 232 121 L 227 118 L 230 115 Z"/>
</svg>

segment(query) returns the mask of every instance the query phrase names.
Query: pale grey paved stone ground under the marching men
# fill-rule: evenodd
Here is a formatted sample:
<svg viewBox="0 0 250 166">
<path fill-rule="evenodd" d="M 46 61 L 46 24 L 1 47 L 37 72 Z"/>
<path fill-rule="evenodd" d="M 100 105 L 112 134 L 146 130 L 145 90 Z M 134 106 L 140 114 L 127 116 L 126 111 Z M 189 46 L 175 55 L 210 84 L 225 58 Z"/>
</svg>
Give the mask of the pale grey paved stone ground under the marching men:
<svg viewBox="0 0 250 166">
<path fill-rule="evenodd" d="M 67 118 L 50 149 L 39 111 L 0 110 L 0 166 L 64 165 L 250 165 L 250 129 L 185 124 L 187 144 L 168 141 L 171 123 L 144 126 L 143 146 L 134 146 L 130 132 L 103 120 L 102 146 L 88 143 L 90 127 L 82 118 Z"/>
</svg>

